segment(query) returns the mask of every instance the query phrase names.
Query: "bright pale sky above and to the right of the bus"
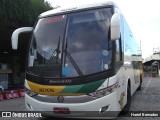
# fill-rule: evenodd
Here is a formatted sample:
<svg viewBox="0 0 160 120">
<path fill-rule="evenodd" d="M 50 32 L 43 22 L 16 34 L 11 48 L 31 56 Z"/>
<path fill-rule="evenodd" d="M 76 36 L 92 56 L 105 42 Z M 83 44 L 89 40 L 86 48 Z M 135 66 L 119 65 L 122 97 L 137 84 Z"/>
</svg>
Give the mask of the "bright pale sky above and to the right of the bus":
<svg viewBox="0 0 160 120">
<path fill-rule="evenodd" d="M 66 7 L 84 4 L 89 1 L 104 0 L 46 0 L 53 7 Z M 160 7 L 159 0 L 113 0 L 119 6 L 133 35 L 141 43 L 142 57 L 145 59 L 153 54 L 154 50 L 160 52 Z"/>
</svg>

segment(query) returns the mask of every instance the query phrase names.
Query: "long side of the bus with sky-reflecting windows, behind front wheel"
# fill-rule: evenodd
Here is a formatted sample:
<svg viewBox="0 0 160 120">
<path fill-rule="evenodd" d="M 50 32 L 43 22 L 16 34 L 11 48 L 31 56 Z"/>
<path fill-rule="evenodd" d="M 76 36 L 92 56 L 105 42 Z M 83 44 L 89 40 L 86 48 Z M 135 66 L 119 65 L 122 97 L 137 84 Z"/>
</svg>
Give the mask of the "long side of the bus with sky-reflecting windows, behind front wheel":
<svg viewBox="0 0 160 120">
<path fill-rule="evenodd" d="M 124 19 L 124 18 L 123 18 Z M 131 95 L 140 84 L 138 65 L 138 44 L 124 19 L 124 67 L 125 78 L 130 80 Z"/>
</svg>

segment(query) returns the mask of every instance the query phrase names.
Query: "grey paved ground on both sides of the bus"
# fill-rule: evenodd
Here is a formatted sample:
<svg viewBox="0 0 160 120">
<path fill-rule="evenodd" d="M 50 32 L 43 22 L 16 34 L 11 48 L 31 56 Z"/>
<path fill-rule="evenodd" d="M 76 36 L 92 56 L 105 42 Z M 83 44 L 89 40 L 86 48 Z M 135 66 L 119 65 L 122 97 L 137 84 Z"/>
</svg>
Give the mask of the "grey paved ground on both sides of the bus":
<svg viewBox="0 0 160 120">
<path fill-rule="evenodd" d="M 0 111 L 25 111 L 24 98 L 0 101 Z M 131 113 L 160 112 L 160 78 L 145 78 L 142 90 L 132 96 Z M 128 114 L 130 116 L 130 114 Z M 0 120 L 50 120 L 47 118 L 0 118 Z M 118 117 L 115 120 L 160 120 L 160 117 Z"/>
</svg>

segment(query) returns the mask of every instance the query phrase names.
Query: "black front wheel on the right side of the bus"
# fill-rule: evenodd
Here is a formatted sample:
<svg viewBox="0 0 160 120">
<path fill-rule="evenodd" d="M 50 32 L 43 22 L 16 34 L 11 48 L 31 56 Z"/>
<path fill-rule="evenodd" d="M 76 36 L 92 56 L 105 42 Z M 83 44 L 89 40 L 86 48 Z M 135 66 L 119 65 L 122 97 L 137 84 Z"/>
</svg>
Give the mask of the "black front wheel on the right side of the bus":
<svg viewBox="0 0 160 120">
<path fill-rule="evenodd" d="M 130 93 L 130 87 L 127 87 L 127 103 L 122 109 L 120 115 L 126 115 L 129 112 L 131 106 L 131 93 Z"/>
</svg>

